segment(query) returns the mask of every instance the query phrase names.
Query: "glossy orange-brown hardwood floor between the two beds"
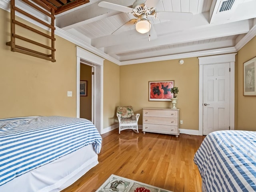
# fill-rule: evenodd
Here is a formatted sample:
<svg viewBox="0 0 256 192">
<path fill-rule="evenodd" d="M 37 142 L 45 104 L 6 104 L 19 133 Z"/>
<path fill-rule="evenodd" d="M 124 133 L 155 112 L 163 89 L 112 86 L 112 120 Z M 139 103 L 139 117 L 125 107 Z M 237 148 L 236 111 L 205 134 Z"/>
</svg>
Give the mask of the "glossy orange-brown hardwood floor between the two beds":
<svg viewBox="0 0 256 192">
<path fill-rule="evenodd" d="M 95 192 L 115 174 L 174 192 L 201 192 L 193 162 L 204 136 L 113 130 L 102 135 L 99 164 L 62 192 Z"/>
</svg>

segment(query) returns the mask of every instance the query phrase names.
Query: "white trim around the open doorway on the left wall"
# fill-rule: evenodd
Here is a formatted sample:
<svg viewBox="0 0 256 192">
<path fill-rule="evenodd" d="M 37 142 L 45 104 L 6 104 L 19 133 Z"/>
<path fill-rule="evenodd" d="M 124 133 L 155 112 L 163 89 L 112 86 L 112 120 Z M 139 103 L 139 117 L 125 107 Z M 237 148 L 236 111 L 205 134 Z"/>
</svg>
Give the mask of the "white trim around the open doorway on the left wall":
<svg viewBox="0 0 256 192">
<path fill-rule="evenodd" d="M 94 102 L 94 124 L 100 134 L 103 130 L 103 62 L 104 59 L 88 52 L 82 48 L 76 47 L 76 117 L 80 117 L 80 62 L 86 60 L 90 62 L 95 69 L 94 90 L 92 95 Z M 97 88 L 96 88 L 97 87 Z"/>
</svg>

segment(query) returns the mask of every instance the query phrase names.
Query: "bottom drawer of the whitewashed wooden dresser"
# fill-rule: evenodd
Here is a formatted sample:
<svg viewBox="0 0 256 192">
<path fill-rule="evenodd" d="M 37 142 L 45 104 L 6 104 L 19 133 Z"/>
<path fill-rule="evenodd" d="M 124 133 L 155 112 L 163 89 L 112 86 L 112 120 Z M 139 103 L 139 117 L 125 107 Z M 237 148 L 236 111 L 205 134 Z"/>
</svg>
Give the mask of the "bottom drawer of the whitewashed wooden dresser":
<svg viewBox="0 0 256 192">
<path fill-rule="evenodd" d="M 142 130 L 144 132 L 178 134 L 178 126 L 143 124 Z"/>
</svg>

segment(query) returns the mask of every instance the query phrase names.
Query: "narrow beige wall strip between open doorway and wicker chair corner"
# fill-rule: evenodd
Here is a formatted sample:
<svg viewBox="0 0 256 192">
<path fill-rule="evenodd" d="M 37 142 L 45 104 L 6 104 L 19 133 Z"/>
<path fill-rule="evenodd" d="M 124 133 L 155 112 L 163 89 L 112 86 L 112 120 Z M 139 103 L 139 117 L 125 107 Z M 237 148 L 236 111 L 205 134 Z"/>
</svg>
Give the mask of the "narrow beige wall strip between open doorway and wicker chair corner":
<svg viewBox="0 0 256 192">
<path fill-rule="evenodd" d="M 103 70 L 103 125 L 106 128 L 118 123 L 116 106 L 120 101 L 120 66 L 104 60 Z"/>
</svg>

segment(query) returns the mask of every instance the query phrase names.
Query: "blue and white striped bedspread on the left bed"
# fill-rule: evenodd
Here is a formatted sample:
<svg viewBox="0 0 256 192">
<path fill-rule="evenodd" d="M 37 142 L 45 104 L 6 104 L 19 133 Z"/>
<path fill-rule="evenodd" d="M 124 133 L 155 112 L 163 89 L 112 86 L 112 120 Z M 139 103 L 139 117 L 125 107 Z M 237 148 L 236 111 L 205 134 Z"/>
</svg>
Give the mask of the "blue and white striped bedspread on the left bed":
<svg viewBox="0 0 256 192">
<path fill-rule="evenodd" d="M 62 116 L 0 119 L 0 185 L 102 138 L 92 122 Z"/>
</svg>

